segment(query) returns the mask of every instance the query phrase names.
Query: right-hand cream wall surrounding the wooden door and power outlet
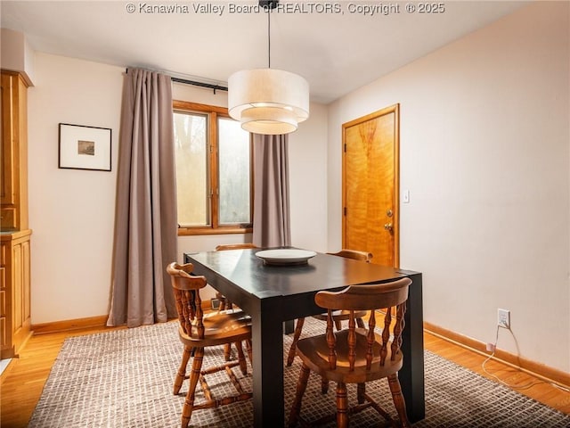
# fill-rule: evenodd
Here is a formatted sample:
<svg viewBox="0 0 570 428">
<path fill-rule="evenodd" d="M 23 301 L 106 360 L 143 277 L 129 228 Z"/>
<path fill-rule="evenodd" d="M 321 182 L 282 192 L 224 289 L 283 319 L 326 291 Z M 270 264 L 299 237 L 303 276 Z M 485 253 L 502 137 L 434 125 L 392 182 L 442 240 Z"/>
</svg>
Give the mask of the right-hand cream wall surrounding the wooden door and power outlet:
<svg viewBox="0 0 570 428">
<path fill-rule="evenodd" d="M 538 2 L 330 106 L 329 245 L 342 123 L 401 105 L 401 266 L 425 320 L 570 370 L 569 6 Z"/>
</svg>

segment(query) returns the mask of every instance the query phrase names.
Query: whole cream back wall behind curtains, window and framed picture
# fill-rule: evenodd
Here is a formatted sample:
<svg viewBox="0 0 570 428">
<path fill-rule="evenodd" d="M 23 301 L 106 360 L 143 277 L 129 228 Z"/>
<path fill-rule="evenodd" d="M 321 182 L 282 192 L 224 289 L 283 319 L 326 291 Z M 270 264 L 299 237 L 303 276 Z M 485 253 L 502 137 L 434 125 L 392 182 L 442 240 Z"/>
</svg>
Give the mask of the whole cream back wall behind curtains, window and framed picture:
<svg viewBox="0 0 570 428">
<path fill-rule="evenodd" d="M 32 324 L 108 313 L 118 129 L 125 68 L 37 53 L 35 87 L 28 90 L 29 224 L 32 235 Z M 227 105 L 227 94 L 175 84 L 178 100 Z M 290 138 L 293 243 L 326 247 L 326 107 Z M 112 128 L 111 172 L 58 169 L 58 124 Z M 305 177 L 311 177 L 307 185 Z M 183 253 L 251 235 L 181 236 Z M 214 292 L 210 290 L 209 296 Z M 205 297 L 208 297 L 206 295 Z"/>
</svg>

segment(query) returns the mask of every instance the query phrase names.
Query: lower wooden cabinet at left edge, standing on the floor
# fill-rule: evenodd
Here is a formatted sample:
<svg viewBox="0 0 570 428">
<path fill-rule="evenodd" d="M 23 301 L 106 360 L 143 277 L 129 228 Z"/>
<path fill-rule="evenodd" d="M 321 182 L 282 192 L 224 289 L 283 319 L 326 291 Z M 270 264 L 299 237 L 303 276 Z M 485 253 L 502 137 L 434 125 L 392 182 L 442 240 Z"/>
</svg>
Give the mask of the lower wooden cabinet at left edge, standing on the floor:
<svg viewBox="0 0 570 428">
<path fill-rule="evenodd" d="M 18 355 L 30 331 L 31 230 L 5 233 L 0 245 L 0 350 L 1 358 Z"/>
</svg>

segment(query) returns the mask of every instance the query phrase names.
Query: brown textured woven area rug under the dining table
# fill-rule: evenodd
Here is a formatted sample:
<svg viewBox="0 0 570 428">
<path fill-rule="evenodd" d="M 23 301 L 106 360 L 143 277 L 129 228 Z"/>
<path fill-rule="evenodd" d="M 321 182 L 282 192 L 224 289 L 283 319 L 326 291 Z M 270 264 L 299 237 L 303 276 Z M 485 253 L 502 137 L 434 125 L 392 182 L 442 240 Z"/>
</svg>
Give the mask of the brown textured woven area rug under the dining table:
<svg viewBox="0 0 570 428">
<path fill-rule="evenodd" d="M 174 375 L 182 355 L 176 329 L 177 323 L 173 322 L 67 339 L 28 428 L 178 427 L 186 383 L 179 395 L 173 395 Z M 322 333 L 322 323 L 307 318 L 304 335 L 312 333 Z M 285 354 L 291 339 L 291 335 L 283 336 Z M 570 427 L 570 416 L 428 350 L 424 355 L 426 418 L 414 424 L 414 428 Z M 214 360 L 218 364 L 223 358 L 222 348 L 208 350 L 205 365 Z M 295 358 L 293 366 L 284 369 L 286 412 L 293 399 L 299 368 L 299 359 Z M 235 373 L 251 391 L 251 372 L 245 377 L 239 370 Z M 215 396 L 218 391 L 229 388 L 226 376 L 220 377 L 217 384 L 209 381 L 208 384 Z M 367 391 L 383 397 L 380 403 L 395 416 L 387 383 L 379 381 L 373 385 L 367 385 Z M 200 392 L 197 399 L 202 398 Z M 354 402 L 354 391 L 349 391 L 349 399 Z M 322 395 L 320 379 L 312 374 L 302 415 L 313 420 L 334 409 L 334 389 Z M 287 420 L 287 415 L 285 418 Z M 367 409 L 354 416 L 350 426 L 378 426 L 378 418 L 374 410 Z M 191 417 L 191 426 L 250 427 L 252 421 L 253 409 L 248 401 L 196 411 Z"/>
</svg>

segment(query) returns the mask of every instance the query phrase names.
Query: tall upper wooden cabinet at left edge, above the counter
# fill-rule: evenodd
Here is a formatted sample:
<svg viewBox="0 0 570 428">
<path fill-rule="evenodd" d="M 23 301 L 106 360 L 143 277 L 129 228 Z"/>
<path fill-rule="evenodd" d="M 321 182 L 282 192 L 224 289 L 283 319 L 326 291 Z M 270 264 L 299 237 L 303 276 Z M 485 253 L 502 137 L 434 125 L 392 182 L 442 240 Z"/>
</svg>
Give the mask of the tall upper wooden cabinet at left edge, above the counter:
<svg viewBox="0 0 570 428">
<path fill-rule="evenodd" d="M 2 70 L 0 134 L 1 228 L 28 229 L 28 85 L 20 73 Z"/>
</svg>

